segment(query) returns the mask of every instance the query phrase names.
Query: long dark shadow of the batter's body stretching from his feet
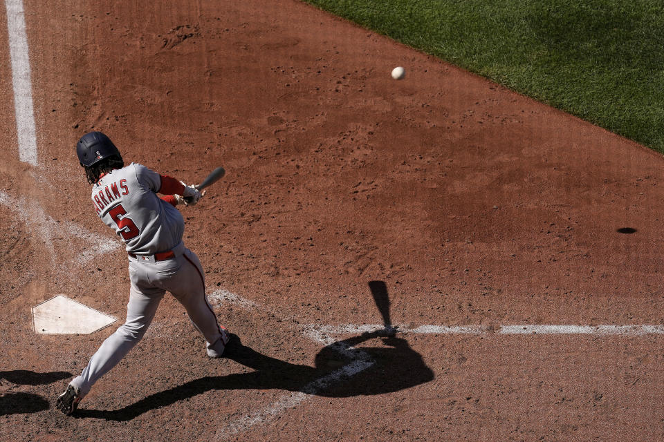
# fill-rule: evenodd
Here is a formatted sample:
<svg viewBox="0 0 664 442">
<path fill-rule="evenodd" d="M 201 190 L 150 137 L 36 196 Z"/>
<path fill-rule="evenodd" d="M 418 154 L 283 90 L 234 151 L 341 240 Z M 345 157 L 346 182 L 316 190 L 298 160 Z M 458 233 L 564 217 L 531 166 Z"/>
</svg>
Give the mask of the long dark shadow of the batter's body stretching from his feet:
<svg viewBox="0 0 664 442">
<path fill-rule="evenodd" d="M 380 338 L 386 347 L 362 347 L 363 342 Z M 385 331 L 365 333 L 341 340 L 322 349 L 315 367 L 281 361 L 243 345 L 231 334 L 225 358 L 255 371 L 228 376 L 205 376 L 169 390 L 151 394 L 120 410 L 79 409 L 75 416 L 131 421 L 141 414 L 184 401 L 211 390 L 286 390 L 325 397 L 349 397 L 398 392 L 430 382 L 434 373 L 407 340 L 386 335 Z"/>
</svg>

